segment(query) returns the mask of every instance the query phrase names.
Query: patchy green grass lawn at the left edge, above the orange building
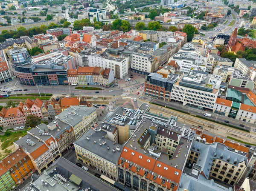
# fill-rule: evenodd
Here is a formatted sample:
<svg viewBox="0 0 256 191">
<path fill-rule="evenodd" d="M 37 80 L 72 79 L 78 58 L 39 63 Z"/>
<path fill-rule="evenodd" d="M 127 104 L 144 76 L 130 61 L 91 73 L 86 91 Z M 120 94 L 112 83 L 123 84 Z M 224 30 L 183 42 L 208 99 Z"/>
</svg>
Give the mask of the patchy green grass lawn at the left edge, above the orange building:
<svg viewBox="0 0 256 191">
<path fill-rule="evenodd" d="M 0 135 L 0 159 L 6 157 L 10 152 L 14 151 L 13 143 L 17 141 L 20 137 L 23 137 L 27 134 L 26 130 L 24 131 L 15 131 L 10 132 L 9 136 Z"/>
</svg>

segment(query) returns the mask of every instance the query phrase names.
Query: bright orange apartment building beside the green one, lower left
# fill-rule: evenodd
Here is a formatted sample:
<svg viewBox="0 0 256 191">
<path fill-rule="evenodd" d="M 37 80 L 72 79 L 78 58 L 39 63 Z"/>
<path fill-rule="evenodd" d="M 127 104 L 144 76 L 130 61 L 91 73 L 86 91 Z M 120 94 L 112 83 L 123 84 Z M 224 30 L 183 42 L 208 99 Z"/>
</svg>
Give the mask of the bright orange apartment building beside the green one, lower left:
<svg viewBox="0 0 256 191">
<path fill-rule="evenodd" d="M 2 160 L 2 165 L 4 165 L 10 172 L 12 182 L 9 176 L 6 178 L 12 182 L 12 187 L 20 185 L 24 180 L 28 179 L 34 172 L 35 168 L 28 157 L 28 155 L 20 148 L 9 154 Z M 15 185 L 16 184 L 16 185 Z"/>
</svg>

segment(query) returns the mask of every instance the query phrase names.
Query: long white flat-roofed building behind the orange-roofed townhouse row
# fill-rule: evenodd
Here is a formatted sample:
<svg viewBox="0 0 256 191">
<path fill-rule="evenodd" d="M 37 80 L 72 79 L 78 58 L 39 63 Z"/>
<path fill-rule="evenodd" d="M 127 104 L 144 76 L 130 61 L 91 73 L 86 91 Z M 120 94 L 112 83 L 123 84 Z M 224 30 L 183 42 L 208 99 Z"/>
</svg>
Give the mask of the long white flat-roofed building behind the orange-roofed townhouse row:
<svg viewBox="0 0 256 191">
<path fill-rule="evenodd" d="M 88 56 L 89 66 L 97 66 L 102 68 L 111 68 L 114 77 L 123 78 L 128 74 L 128 59 L 108 57 L 104 52 L 102 54 L 91 54 Z"/>
</svg>

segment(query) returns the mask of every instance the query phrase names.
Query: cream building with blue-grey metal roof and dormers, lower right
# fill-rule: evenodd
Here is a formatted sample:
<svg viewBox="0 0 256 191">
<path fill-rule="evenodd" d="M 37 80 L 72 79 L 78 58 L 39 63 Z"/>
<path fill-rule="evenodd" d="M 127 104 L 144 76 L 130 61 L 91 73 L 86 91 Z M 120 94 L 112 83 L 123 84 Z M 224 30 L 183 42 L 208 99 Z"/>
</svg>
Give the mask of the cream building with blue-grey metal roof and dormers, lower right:
<svg viewBox="0 0 256 191">
<path fill-rule="evenodd" d="M 204 144 L 195 139 L 187 163 L 200 170 L 207 179 L 233 186 L 246 168 L 248 160 L 246 155 L 247 153 L 243 151 L 230 150 L 222 143 Z"/>
</svg>

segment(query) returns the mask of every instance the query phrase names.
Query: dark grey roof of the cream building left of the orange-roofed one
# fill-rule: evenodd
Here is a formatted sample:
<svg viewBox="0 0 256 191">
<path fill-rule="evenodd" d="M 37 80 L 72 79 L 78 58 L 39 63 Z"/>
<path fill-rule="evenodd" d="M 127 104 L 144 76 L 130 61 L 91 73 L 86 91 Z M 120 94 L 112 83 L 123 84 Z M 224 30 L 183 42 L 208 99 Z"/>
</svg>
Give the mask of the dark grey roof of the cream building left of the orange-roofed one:
<svg viewBox="0 0 256 191">
<path fill-rule="evenodd" d="M 90 129 L 76 140 L 74 145 L 84 148 L 115 165 L 116 161 L 119 160 L 123 146 L 117 143 L 114 144 L 113 141 L 106 139 L 106 134 L 105 131 L 94 131 Z"/>
</svg>

